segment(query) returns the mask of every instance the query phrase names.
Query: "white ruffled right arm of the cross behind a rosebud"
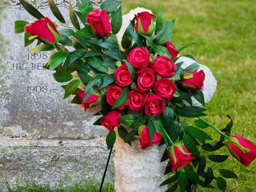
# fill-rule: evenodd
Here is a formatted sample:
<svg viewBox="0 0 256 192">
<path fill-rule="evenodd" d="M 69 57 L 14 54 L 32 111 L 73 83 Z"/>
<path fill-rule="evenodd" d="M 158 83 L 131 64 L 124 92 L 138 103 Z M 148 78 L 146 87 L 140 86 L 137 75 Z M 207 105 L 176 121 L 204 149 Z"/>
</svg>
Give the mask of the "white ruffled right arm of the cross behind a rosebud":
<svg viewBox="0 0 256 192">
<path fill-rule="evenodd" d="M 205 80 L 204 80 L 204 90 L 203 94 L 204 94 L 204 102 L 208 103 L 210 101 L 210 98 L 212 98 L 214 92 L 216 91 L 217 88 L 217 81 L 215 79 L 215 77 L 213 76 L 212 72 L 210 71 L 210 69 L 205 66 L 205 65 L 201 65 L 199 63 L 197 63 L 196 61 L 188 58 L 188 57 L 180 57 L 176 63 L 178 62 L 183 62 L 183 64 L 181 65 L 181 68 L 185 69 L 187 68 L 187 66 L 192 65 L 193 63 L 196 63 L 199 65 L 199 70 L 204 70 L 205 73 Z M 188 102 L 183 101 L 183 103 L 186 106 L 190 106 Z M 192 105 L 193 106 L 197 106 L 197 107 L 202 107 L 203 105 L 201 105 L 201 103 L 199 103 L 198 101 L 196 101 L 195 98 L 192 97 Z"/>
</svg>

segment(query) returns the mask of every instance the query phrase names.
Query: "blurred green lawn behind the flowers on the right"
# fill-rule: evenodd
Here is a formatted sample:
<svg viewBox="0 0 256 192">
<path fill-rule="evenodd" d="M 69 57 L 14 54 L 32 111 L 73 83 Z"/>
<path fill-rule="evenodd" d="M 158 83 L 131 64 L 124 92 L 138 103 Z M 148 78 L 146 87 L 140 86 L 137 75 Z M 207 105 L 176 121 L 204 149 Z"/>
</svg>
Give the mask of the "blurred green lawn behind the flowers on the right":
<svg viewBox="0 0 256 192">
<path fill-rule="evenodd" d="M 229 122 L 226 115 L 230 115 L 234 120 L 232 132 L 256 144 L 255 0 L 125 0 L 122 11 L 126 14 L 135 7 L 144 7 L 156 15 L 159 3 L 163 21 L 176 19 L 170 41 L 176 48 L 195 42 L 181 55 L 192 55 L 197 62 L 207 65 L 218 81 L 204 119 L 221 129 Z M 219 139 L 210 128 L 207 133 Z M 225 147 L 214 153 L 229 154 Z M 213 153 L 204 151 L 205 156 L 210 154 Z M 207 166 L 215 168 L 214 176 L 220 176 L 221 168 L 237 174 L 239 179 L 226 179 L 228 191 L 256 191 L 256 161 L 245 167 L 230 156 L 220 164 L 208 161 Z"/>
</svg>

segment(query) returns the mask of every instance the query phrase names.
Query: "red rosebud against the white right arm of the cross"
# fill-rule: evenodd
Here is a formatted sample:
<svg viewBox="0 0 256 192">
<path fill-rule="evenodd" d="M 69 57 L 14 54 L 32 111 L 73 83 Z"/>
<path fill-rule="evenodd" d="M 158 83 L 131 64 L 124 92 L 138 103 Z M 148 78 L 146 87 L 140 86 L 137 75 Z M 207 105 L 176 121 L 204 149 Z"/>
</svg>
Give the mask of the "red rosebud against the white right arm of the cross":
<svg viewBox="0 0 256 192">
<path fill-rule="evenodd" d="M 181 76 L 181 87 L 184 89 L 195 90 L 204 89 L 205 74 L 203 70 L 199 72 L 185 72 Z"/>
</svg>

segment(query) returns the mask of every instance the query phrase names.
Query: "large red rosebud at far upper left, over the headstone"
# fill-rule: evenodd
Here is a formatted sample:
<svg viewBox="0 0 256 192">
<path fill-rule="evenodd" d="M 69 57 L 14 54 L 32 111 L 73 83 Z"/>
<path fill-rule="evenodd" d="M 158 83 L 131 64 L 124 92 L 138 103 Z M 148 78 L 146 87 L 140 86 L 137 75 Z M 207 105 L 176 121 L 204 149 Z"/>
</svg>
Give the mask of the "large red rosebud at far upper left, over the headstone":
<svg viewBox="0 0 256 192">
<path fill-rule="evenodd" d="M 49 18 L 36 20 L 34 23 L 26 24 L 24 31 L 31 35 L 30 40 L 35 38 L 46 45 L 55 45 L 61 40 L 59 31 Z"/>
</svg>

